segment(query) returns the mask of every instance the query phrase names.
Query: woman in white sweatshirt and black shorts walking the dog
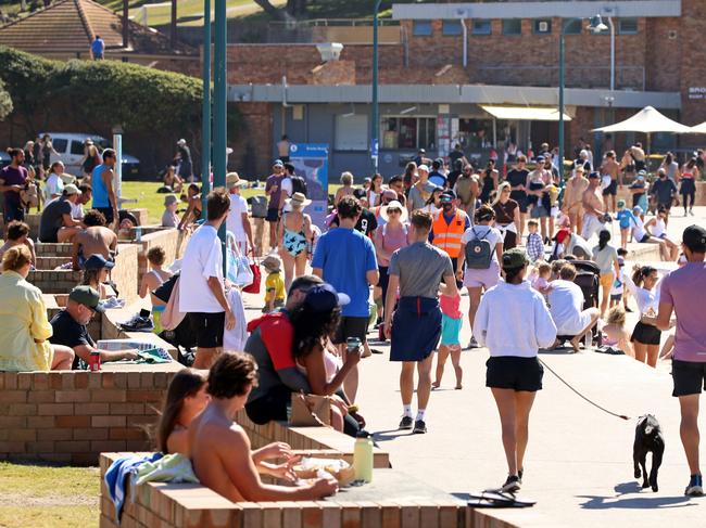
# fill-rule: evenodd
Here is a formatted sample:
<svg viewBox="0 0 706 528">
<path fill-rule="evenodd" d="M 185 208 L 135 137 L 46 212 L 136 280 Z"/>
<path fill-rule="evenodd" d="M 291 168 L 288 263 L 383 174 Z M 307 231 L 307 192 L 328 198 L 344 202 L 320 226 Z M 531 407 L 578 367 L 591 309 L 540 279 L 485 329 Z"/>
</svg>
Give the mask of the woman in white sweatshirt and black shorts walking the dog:
<svg viewBox="0 0 706 528">
<path fill-rule="evenodd" d="M 542 294 L 524 282 L 528 262 L 525 249 L 503 254 L 505 281 L 486 292 L 474 321 L 474 336 L 490 351 L 486 386 L 500 412 L 508 468 L 501 489 L 507 492 L 518 491 L 522 484 L 529 415 L 544 373 L 537 352 L 556 339 Z"/>
</svg>

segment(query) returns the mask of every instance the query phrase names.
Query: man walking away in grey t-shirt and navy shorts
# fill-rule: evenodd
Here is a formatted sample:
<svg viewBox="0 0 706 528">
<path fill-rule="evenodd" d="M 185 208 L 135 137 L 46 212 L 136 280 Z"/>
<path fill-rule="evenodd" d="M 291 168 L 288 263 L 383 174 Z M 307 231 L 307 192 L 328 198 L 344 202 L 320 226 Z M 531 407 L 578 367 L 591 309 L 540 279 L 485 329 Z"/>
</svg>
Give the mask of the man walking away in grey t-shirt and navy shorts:
<svg viewBox="0 0 706 528">
<path fill-rule="evenodd" d="M 431 215 L 424 210 L 412 214 L 411 245 L 398 249 L 390 258 L 390 282 L 384 299 L 384 334 L 391 339 L 390 361 L 402 362 L 400 394 L 402 421 L 400 429 L 412 429 L 412 394 L 415 366 L 417 383 L 417 417 L 413 433 L 427 432 L 426 412 L 431 392 L 431 352 L 441 337 L 439 284 L 446 284 L 450 296 L 458 293 L 451 258 L 429 244 Z M 395 310 L 398 287 L 400 302 Z M 394 312 L 394 315 L 393 315 Z"/>
</svg>

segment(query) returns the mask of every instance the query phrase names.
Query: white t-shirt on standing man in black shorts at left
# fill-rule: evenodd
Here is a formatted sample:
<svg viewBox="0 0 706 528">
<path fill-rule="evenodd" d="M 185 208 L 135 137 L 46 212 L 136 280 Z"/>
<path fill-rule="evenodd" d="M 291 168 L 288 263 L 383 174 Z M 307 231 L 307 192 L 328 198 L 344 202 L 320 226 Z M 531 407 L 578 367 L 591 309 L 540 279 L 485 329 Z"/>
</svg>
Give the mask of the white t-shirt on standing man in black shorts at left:
<svg viewBox="0 0 706 528">
<path fill-rule="evenodd" d="M 223 281 L 223 253 L 218 232 L 203 224 L 197 229 L 181 259 L 179 311 L 217 313 L 223 308 L 209 287 L 209 278 Z"/>
</svg>

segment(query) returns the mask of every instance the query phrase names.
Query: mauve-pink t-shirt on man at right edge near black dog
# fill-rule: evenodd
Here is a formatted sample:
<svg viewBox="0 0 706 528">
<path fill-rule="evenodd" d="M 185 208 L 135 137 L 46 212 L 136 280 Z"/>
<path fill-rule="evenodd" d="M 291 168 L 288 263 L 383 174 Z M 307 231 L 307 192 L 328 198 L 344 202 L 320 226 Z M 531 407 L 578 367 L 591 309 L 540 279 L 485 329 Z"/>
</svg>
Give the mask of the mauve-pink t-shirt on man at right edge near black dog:
<svg viewBox="0 0 706 528">
<path fill-rule="evenodd" d="M 706 262 L 689 262 L 661 280 L 660 302 L 675 307 L 677 333 L 673 358 L 681 361 L 706 361 Z"/>
</svg>

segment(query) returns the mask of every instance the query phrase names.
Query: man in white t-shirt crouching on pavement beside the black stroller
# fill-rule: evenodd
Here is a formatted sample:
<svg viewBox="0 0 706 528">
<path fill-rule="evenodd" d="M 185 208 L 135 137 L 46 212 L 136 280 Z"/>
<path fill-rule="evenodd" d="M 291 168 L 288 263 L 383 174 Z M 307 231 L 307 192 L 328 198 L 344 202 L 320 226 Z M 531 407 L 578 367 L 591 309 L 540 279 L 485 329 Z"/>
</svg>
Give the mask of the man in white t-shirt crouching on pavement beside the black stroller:
<svg viewBox="0 0 706 528">
<path fill-rule="evenodd" d="M 559 279 L 550 283 L 550 313 L 556 324 L 557 336 L 570 336 L 571 347 L 579 351 L 579 343 L 598 321 L 597 308 L 583 309 L 583 292 L 573 283 L 576 268 L 567 263 L 559 270 Z M 560 343 L 554 344 L 558 346 Z"/>
</svg>

